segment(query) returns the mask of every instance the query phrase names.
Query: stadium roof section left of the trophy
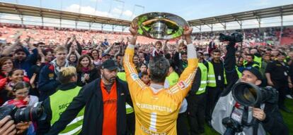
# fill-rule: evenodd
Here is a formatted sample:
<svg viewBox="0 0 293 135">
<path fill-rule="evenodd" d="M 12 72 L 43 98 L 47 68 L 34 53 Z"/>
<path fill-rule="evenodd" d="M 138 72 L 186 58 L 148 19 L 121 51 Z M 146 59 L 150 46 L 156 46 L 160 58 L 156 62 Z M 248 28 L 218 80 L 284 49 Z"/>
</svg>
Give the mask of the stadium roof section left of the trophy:
<svg viewBox="0 0 293 135">
<path fill-rule="evenodd" d="M 96 15 L 87 15 L 81 13 L 73 13 L 68 11 L 57 11 L 49 8 L 39 8 L 34 6 L 24 6 L 19 4 L 10 4 L 0 2 L 0 13 L 9 13 L 17 15 L 30 15 L 44 18 L 56 18 L 64 20 L 78 20 L 89 23 L 102 23 L 109 25 L 130 26 L 129 20 L 121 20 L 116 18 L 106 18 Z"/>
</svg>

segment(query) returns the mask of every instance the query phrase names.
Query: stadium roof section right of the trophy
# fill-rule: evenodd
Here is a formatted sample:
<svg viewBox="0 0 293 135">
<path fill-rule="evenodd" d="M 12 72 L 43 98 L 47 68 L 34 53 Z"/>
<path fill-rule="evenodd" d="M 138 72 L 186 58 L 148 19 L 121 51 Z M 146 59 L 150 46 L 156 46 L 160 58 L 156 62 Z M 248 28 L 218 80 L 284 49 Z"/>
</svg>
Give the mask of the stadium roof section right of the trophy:
<svg viewBox="0 0 293 135">
<path fill-rule="evenodd" d="M 219 15 L 210 18 L 202 18 L 189 20 L 190 26 L 199 25 L 212 25 L 216 23 L 229 23 L 242 20 L 260 19 L 260 18 L 272 18 L 281 15 L 293 15 L 293 4 L 286 6 L 277 6 L 272 8 L 258 9 L 255 11 L 246 11 L 241 13 L 232 13 L 229 15 Z"/>
</svg>

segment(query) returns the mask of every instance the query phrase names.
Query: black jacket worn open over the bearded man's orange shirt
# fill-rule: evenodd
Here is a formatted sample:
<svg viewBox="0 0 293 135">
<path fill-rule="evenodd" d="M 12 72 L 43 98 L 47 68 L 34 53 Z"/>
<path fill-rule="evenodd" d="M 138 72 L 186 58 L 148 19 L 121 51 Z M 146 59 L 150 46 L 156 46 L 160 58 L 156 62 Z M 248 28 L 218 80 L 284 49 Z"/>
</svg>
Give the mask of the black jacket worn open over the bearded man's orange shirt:
<svg viewBox="0 0 293 135">
<path fill-rule="evenodd" d="M 120 79 L 117 84 L 117 135 L 124 135 L 126 130 L 126 99 L 130 98 L 128 86 Z M 48 135 L 58 134 L 71 120 L 74 120 L 79 111 L 84 108 L 84 124 L 81 134 L 99 135 L 103 129 L 103 96 L 100 89 L 100 79 L 86 84 L 76 96 L 59 120 L 52 125 Z M 114 125 L 113 125 L 114 126 Z"/>
</svg>

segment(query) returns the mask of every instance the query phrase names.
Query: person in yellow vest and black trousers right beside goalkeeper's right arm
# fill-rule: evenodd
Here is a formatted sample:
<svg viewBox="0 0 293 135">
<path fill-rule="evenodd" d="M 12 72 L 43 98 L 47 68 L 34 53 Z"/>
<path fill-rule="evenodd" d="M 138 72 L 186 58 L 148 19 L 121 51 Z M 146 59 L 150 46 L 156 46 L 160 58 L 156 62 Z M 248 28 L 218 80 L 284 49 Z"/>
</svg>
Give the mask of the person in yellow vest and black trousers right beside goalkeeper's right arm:
<svg viewBox="0 0 293 135">
<path fill-rule="evenodd" d="M 207 67 L 203 62 L 203 53 L 198 52 L 199 64 L 195 75 L 195 81 L 187 96 L 188 101 L 188 123 L 190 134 L 205 134 L 205 104 L 207 86 Z"/>
</svg>

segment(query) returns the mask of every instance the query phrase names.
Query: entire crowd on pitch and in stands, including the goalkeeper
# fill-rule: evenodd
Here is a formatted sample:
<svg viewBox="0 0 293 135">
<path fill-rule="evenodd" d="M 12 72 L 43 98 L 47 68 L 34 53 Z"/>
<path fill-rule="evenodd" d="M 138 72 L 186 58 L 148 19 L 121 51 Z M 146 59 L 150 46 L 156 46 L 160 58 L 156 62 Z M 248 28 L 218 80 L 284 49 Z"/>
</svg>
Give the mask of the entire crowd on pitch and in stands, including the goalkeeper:
<svg viewBox="0 0 293 135">
<path fill-rule="evenodd" d="M 292 98 L 292 46 L 199 45 L 191 27 L 172 44 L 138 36 L 137 26 L 130 34 L 0 30 L 6 39 L 0 43 L 0 105 L 42 101 L 46 115 L 18 124 L 7 116 L 0 134 L 185 135 L 205 134 L 205 124 L 224 134 L 222 118 L 241 106 L 231 96 L 238 82 L 278 91 L 275 102 L 251 110 L 259 126 L 243 132 L 289 134 L 280 110 L 292 113 L 285 106 Z"/>
</svg>

